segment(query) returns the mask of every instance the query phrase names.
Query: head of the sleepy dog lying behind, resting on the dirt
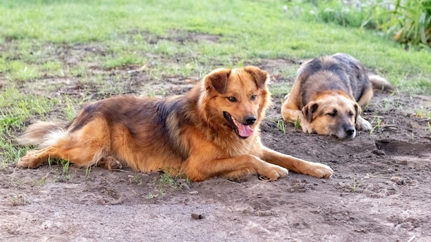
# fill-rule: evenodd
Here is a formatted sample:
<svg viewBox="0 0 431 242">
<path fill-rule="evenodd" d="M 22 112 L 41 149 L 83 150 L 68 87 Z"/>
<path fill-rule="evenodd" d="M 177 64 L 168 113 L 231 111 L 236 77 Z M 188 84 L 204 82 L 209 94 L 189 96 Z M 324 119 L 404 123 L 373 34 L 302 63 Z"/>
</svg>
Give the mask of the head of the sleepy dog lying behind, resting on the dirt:
<svg viewBox="0 0 431 242">
<path fill-rule="evenodd" d="M 356 136 L 355 124 L 361 107 L 342 91 L 337 91 L 336 94 L 323 94 L 308 102 L 302 113 L 316 133 L 345 140 Z"/>
</svg>

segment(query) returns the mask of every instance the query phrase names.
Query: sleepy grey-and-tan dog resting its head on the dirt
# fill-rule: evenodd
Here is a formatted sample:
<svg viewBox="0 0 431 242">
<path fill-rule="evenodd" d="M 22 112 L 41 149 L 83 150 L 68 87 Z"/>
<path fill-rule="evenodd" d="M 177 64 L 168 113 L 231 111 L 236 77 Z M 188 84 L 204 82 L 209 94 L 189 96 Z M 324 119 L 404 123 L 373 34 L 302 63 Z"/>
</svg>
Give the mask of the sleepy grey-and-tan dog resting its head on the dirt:
<svg viewBox="0 0 431 242">
<path fill-rule="evenodd" d="M 299 68 L 282 105 L 283 119 L 299 121 L 306 133 L 353 139 L 357 130 L 371 129 L 360 114 L 372 98 L 373 87 L 392 90 L 387 80 L 368 76 L 364 66 L 348 54 L 314 58 Z"/>
</svg>

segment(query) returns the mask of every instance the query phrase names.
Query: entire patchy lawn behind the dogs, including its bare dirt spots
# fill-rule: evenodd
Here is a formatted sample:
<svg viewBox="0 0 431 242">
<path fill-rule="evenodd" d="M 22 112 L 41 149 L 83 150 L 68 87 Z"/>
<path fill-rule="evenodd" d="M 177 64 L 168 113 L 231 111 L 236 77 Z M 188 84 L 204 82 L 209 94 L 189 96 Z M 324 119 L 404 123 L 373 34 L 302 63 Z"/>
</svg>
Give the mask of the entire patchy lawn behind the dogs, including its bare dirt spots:
<svg viewBox="0 0 431 242">
<path fill-rule="evenodd" d="M 153 84 L 167 76 L 198 79 L 216 67 L 259 65 L 262 59 L 298 61 L 346 52 L 401 92 L 431 94 L 427 49 L 406 51 L 372 30 L 322 23 L 309 14 L 295 16 L 295 5 L 308 11 L 310 3 L 291 1 L 288 12 L 283 12 L 284 4 L 275 0 L 1 1 L 2 164 L 17 162 L 25 151 L 15 136 L 29 122 L 71 120 L 84 102 L 113 94 L 164 95 L 167 89 L 155 89 Z M 140 67 L 141 72 L 130 72 Z M 292 80 L 296 68 L 274 72 L 270 74 Z M 133 75 L 139 77 L 136 83 Z M 287 81 L 271 87 L 277 97 L 289 89 Z"/>
</svg>

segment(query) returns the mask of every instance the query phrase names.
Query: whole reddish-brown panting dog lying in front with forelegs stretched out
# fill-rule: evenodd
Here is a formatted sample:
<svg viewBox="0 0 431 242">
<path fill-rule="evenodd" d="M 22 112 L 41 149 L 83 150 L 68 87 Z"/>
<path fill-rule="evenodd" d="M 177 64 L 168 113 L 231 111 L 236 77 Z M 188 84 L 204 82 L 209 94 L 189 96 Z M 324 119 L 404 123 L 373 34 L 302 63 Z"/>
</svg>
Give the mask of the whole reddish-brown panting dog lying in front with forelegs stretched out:
<svg viewBox="0 0 431 242">
<path fill-rule="evenodd" d="M 37 122 L 19 139 L 38 144 L 17 166 L 49 158 L 78 166 L 165 169 L 193 181 L 259 174 L 276 180 L 288 170 L 330 177 L 333 170 L 262 145 L 260 122 L 269 104 L 269 76 L 257 67 L 216 69 L 185 96 L 159 100 L 117 96 L 88 104 L 68 125 Z"/>
</svg>

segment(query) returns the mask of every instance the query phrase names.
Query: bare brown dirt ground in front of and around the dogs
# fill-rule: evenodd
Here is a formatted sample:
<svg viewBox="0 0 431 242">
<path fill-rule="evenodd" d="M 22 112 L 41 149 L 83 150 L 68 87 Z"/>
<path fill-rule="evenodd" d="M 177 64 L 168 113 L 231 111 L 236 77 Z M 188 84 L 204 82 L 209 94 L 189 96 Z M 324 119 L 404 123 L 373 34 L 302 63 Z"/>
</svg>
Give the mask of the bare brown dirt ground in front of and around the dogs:
<svg viewBox="0 0 431 242">
<path fill-rule="evenodd" d="M 75 61 L 94 51 L 75 48 L 69 50 Z M 298 62 L 258 66 L 276 86 L 293 82 L 278 71 Z M 148 84 L 171 95 L 196 83 L 178 76 L 149 83 L 137 68 L 105 72 L 124 76 L 137 96 Z M 52 96 L 97 90 L 79 78 L 38 82 L 60 83 Z M 38 93 L 29 85 L 22 90 Z M 289 173 L 275 182 L 250 176 L 190 183 L 127 168 L 95 167 L 88 175 L 73 166 L 63 173 L 60 164 L 36 170 L 10 164 L 0 170 L 0 241 L 431 241 L 431 127 L 421 115 L 431 111 L 430 97 L 377 92 L 364 111 L 375 129 L 348 141 L 304 134 L 292 124 L 284 133 L 277 127 L 280 98 L 273 96 L 262 124 L 264 144 L 328 164 L 335 170 L 330 179 Z"/>
</svg>

